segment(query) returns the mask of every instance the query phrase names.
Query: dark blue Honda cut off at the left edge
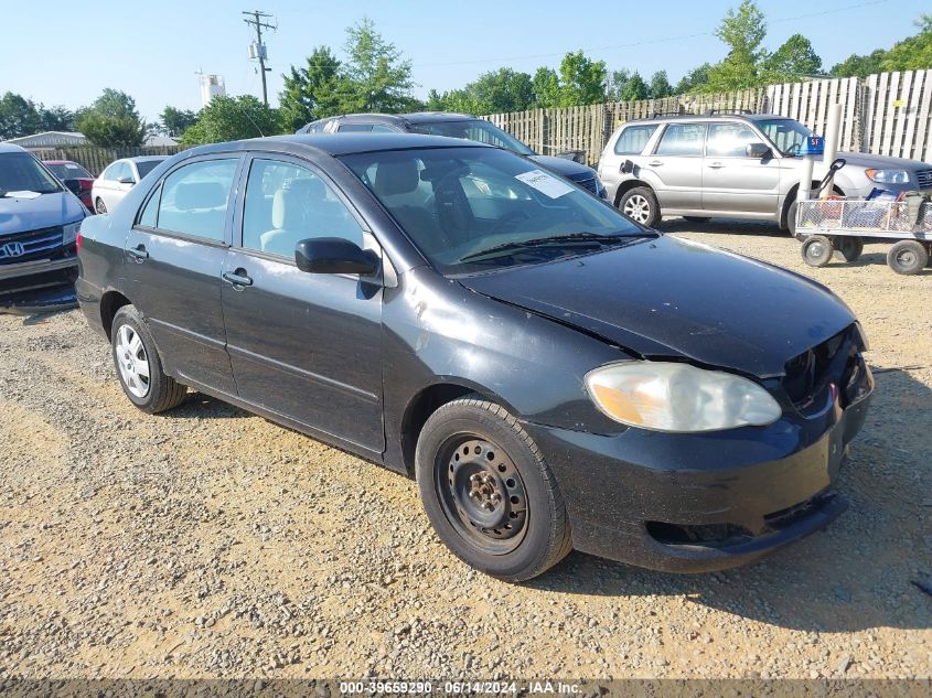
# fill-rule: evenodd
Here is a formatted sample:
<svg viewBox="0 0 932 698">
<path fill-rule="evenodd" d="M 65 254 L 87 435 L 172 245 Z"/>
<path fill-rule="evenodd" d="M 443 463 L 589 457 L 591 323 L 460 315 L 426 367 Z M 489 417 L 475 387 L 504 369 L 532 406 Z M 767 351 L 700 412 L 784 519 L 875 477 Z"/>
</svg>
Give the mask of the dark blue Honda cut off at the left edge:
<svg viewBox="0 0 932 698">
<path fill-rule="evenodd" d="M 32 153 L 0 143 L 0 310 L 74 305 L 75 245 L 86 215 Z"/>
</svg>

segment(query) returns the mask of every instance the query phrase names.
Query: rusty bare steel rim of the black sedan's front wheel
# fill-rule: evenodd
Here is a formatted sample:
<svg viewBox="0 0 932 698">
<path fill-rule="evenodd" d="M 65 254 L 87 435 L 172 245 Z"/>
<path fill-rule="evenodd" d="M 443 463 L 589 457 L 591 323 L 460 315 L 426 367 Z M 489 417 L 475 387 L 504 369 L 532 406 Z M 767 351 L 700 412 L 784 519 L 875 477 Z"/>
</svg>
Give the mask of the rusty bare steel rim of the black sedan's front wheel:
<svg viewBox="0 0 932 698">
<path fill-rule="evenodd" d="M 449 439 L 437 455 L 435 484 L 447 519 L 474 546 L 505 555 L 521 545 L 527 493 L 502 448 L 473 436 Z"/>
</svg>

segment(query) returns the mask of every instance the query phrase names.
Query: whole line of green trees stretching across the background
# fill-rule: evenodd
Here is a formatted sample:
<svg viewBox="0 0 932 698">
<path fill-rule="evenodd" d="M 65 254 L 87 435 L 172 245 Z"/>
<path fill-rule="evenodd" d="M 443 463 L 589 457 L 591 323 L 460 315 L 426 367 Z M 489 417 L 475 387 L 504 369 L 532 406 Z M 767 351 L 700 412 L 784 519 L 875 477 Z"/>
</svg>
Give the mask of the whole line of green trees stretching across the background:
<svg viewBox="0 0 932 698">
<path fill-rule="evenodd" d="M 638 71 L 609 71 L 604 61 L 576 51 L 567 53 L 556 68 L 542 66 L 532 75 L 502 67 L 459 89 L 431 89 L 421 101 L 413 96 L 410 61 L 378 33 L 372 20 L 363 19 L 346 30 L 342 58 L 330 46 L 317 46 L 302 65 L 292 65 L 282 75 L 285 85 L 277 108 L 251 95 L 223 96 L 197 112 L 167 106 L 156 124 L 146 124 L 133 98 L 116 89 L 105 89 L 94 103 L 74 112 L 8 92 L 0 97 L 0 139 L 77 130 L 104 147 L 141 146 L 149 133 L 199 144 L 293 132 L 314 119 L 357 111 L 426 108 L 499 114 L 930 68 L 932 14 L 922 14 L 915 24 L 919 31 L 914 35 L 890 49 L 851 54 L 826 73 L 812 42 L 802 34 L 793 34 L 775 51 L 768 51 L 767 18 L 753 0 L 742 0 L 726 13 L 715 31 L 727 47 L 726 56 L 718 63 L 693 68 L 675 85 L 666 71 L 645 79 Z"/>
</svg>

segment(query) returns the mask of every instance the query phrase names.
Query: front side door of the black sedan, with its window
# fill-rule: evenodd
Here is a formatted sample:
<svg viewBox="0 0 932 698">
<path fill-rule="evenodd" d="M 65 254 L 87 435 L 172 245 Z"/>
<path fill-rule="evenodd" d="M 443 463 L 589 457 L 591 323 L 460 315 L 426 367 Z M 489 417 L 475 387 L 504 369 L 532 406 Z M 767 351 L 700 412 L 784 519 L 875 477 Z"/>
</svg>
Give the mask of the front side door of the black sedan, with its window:
<svg viewBox="0 0 932 698">
<path fill-rule="evenodd" d="M 298 269 L 294 247 L 344 237 L 377 248 L 331 182 L 302 160 L 255 157 L 223 308 L 239 396 L 373 452 L 382 423 L 382 284 Z"/>
</svg>

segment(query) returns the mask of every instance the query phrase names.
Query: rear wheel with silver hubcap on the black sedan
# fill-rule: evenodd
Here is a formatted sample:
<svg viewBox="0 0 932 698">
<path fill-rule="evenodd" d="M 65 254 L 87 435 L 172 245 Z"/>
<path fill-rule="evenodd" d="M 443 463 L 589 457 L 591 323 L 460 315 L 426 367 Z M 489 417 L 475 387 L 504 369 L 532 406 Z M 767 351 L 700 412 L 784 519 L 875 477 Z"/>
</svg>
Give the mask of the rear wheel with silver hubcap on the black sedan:
<svg viewBox="0 0 932 698">
<path fill-rule="evenodd" d="M 138 345 L 133 337 L 138 337 Z M 152 334 L 132 305 L 124 305 L 114 316 L 110 354 L 124 393 L 143 412 L 163 412 L 178 407 L 184 399 L 188 388 L 162 371 Z M 143 364 L 148 377 L 138 369 Z"/>
</svg>

